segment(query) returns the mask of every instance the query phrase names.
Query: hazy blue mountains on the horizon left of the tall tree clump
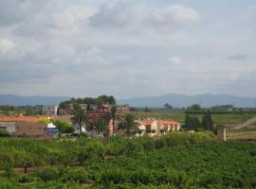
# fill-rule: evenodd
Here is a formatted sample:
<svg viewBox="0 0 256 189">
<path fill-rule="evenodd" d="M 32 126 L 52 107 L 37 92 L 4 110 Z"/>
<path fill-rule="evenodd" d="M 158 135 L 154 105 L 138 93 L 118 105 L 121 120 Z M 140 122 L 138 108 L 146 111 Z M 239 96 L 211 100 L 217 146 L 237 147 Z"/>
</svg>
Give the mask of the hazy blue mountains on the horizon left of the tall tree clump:
<svg viewBox="0 0 256 189">
<path fill-rule="evenodd" d="M 21 96 L 13 94 L 0 94 L 0 105 L 11 106 L 35 106 L 35 105 L 59 105 L 60 102 L 68 100 L 67 96 Z"/>
</svg>

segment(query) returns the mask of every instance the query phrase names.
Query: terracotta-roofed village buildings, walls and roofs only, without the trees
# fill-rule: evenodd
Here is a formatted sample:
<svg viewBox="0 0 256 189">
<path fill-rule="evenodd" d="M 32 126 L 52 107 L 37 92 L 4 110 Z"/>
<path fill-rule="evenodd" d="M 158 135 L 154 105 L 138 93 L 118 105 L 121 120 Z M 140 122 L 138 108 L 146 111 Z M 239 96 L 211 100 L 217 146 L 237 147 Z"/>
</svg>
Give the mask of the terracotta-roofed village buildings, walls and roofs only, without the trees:
<svg viewBox="0 0 256 189">
<path fill-rule="evenodd" d="M 111 107 L 107 105 L 81 105 L 82 110 L 86 113 L 90 121 L 96 121 L 99 118 L 105 118 Z M 64 121 L 71 122 L 70 113 L 73 111 L 73 106 L 67 107 L 66 115 L 59 116 L 57 106 L 44 106 L 44 115 L 37 116 L 0 116 L 0 131 L 7 131 L 13 136 L 29 136 L 29 137 L 45 137 L 55 138 L 58 137 L 59 130 L 52 124 L 40 123 L 42 118 L 50 119 L 61 119 Z M 68 113 L 69 112 L 69 113 Z M 129 112 L 128 106 L 119 106 L 119 113 Z M 170 131 L 179 131 L 181 124 L 175 121 L 168 120 L 157 120 L 157 119 L 138 119 L 137 128 L 140 130 L 137 135 L 148 134 L 150 136 L 163 135 Z M 108 134 L 112 135 L 118 132 L 119 123 L 115 121 L 113 127 L 113 120 L 109 123 Z M 74 126 L 75 132 L 80 132 L 79 126 Z M 82 128 L 83 132 L 88 132 L 89 129 L 86 127 Z"/>
</svg>

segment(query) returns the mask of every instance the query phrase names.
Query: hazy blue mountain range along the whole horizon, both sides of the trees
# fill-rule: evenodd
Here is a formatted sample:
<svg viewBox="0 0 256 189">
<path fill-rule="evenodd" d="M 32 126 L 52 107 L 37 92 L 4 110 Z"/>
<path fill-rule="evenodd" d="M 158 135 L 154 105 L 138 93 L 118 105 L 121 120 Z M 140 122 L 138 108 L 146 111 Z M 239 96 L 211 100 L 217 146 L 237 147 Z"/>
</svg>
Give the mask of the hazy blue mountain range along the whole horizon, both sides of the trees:
<svg viewBox="0 0 256 189">
<path fill-rule="evenodd" d="M 60 102 L 70 99 L 68 96 L 21 96 L 13 94 L 0 94 L 0 105 L 35 106 L 59 105 Z M 256 108 L 256 97 L 235 96 L 229 94 L 164 94 L 158 96 L 134 97 L 118 99 L 118 104 L 129 104 L 132 107 L 163 107 L 169 103 L 173 107 L 182 108 L 192 104 L 203 107 L 230 104 L 235 107 Z"/>
</svg>

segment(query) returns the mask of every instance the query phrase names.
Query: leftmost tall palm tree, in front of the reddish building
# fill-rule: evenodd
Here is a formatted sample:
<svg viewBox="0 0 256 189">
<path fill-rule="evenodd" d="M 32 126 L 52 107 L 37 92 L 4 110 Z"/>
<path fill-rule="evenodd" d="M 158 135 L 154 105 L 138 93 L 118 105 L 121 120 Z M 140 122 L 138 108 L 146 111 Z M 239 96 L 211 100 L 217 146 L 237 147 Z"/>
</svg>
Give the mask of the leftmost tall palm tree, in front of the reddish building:
<svg viewBox="0 0 256 189">
<path fill-rule="evenodd" d="M 87 124 L 89 120 L 79 104 L 74 105 L 73 117 L 71 119 L 74 124 L 79 125 L 80 133 L 82 133 L 82 126 Z"/>
</svg>

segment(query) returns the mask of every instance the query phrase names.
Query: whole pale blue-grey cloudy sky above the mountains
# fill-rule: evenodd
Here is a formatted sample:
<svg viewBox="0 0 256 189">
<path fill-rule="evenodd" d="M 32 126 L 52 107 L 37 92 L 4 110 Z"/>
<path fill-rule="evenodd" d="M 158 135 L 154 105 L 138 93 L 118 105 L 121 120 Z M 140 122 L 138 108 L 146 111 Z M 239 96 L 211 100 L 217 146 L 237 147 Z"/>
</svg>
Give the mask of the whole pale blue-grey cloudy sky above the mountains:
<svg viewBox="0 0 256 189">
<path fill-rule="evenodd" d="M 0 94 L 256 95 L 255 0 L 0 0 Z"/>
</svg>

